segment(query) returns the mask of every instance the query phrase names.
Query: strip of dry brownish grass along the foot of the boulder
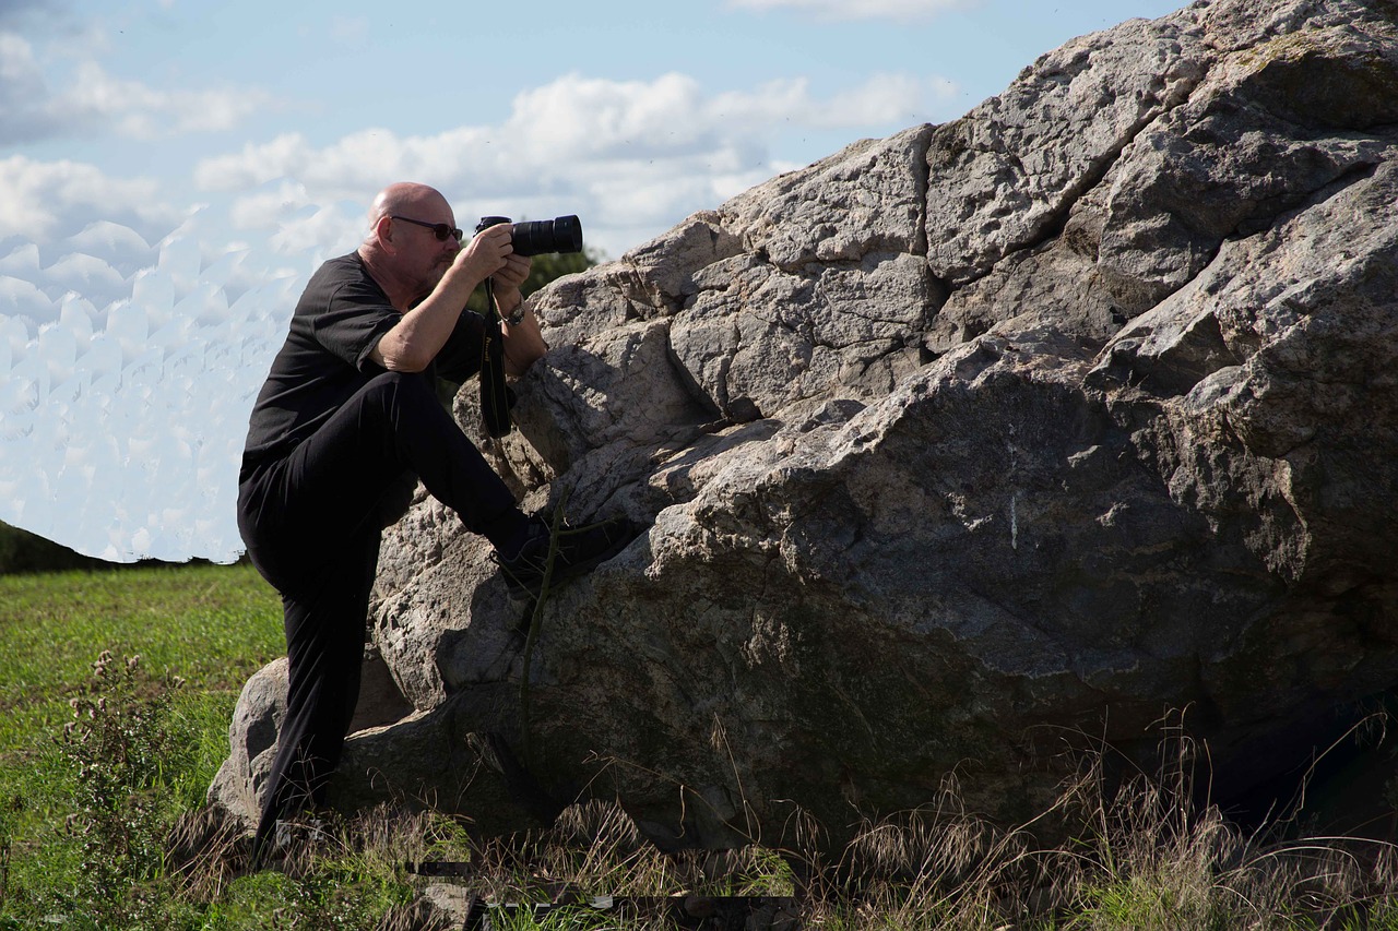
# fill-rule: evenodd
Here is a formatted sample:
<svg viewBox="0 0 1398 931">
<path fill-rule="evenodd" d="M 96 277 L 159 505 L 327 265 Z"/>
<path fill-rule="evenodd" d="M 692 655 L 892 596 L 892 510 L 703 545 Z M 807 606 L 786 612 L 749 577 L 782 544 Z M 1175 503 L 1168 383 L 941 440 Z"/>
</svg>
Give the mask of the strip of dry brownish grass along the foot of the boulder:
<svg viewBox="0 0 1398 931">
<path fill-rule="evenodd" d="M 348 869 L 380 875 L 376 889 L 425 883 L 404 864 L 457 858 L 470 864 L 473 895 L 492 902 L 559 902 L 589 896 L 786 896 L 798 914 L 770 927 L 1152 930 L 1398 928 L 1398 851 L 1345 837 L 1281 840 L 1285 825 L 1247 833 L 1213 805 L 1197 805 L 1197 748 L 1174 732 L 1160 772 L 1107 779 L 1103 756 L 1085 755 L 1057 804 L 1032 823 L 1000 828 L 967 811 L 955 779 L 917 811 L 865 825 L 826 863 L 818 850 L 663 854 L 612 804 L 569 808 L 547 832 L 474 840 L 439 815 L 379 809 L 336 826 L 284 865 L 288 875 Z M 1069 839 L 1043 846 L 1054 825 Z M 809 836 L 815 836 L 811 830 Z M 192 861 L 210 879 L 189 893 L 225 895 L 238 872 L 238 842 L 208 835 Z M 219 871 L 219 857 L 231 868 Z M 351 864 L 347 867 L 345 864 Z M 403 893 L 408 895 L 408 893 Z M 424 900 L 382 913 L 379 928 L 456 921 Z M 509 927 L 603 927 L 587 910 L 552 918 L 513 916 Z M 786 921 L 783 925 L 781 921 Z M 612 914 L 605 927 L 658 927 Z M 768 927 L 768 925 L 762 925 Z"/>
</svg>

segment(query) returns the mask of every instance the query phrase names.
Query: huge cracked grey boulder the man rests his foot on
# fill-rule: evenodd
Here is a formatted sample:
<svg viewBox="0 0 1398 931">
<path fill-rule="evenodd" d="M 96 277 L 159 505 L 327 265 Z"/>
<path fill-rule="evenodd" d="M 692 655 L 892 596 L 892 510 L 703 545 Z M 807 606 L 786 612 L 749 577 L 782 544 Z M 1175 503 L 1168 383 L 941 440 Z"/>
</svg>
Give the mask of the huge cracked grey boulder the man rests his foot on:
<svg viewBox="0 0 1398 931">
<path fill-rule="evenodd" d="M 528 507 L 649 530 L 531 616 L 419 492 L 373 629 L 414 710 L 341 802 L 839 843 L 952 772 L 1033 816 L 1064 739 L 1176 709 L 1223 797 L 1303 766 L 1398 684 L 1395 152 L 1398 4 L 1213 0 L 555 282 L 519 431 L 456 414 Z"/>
</svg>

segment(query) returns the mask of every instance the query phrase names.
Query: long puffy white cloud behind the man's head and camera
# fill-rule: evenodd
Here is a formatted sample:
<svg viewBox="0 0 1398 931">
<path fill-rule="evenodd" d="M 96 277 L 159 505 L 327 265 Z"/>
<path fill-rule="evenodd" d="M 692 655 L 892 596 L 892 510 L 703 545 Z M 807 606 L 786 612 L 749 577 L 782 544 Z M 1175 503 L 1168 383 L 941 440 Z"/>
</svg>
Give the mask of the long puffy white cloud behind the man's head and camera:
<svg viewBox="0 0 1398 931">
<path fill-rule="evenodd" d="M 285 134 L 206 159 L 194 178 L 203 190 L 235 194 L 235 228 L 274 238 L 284 252 L 355 242 L 362 211 L 324 207 L 363 204 L 389 182 L 415 179 L 471 211 L 457 217 L 463 226 L 492 211 L 577 212 L 590 243 L 617 256 L 637 245 L 636 229 L 658 233 L 793 168 L 773 158 L 779 133 L 898 130 L 955 95 L 949 81 L 906 74 L 878 74 L 830 96 L 812 94 L 805 78 L 707 94 L 684 74 L 570 74 L 519 94 L 499 126 L 410 137 L 370 129 L 324 147 Z"/>
</svg>

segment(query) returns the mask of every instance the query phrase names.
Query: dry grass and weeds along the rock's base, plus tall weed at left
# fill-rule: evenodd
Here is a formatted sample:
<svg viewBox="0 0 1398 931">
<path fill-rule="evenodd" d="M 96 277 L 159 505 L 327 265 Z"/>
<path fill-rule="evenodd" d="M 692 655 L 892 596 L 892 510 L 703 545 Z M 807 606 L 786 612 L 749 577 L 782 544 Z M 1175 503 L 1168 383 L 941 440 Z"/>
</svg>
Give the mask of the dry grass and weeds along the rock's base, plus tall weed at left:
<svg viewBox="0 0 1398 931">
<path fill-rule="evenodd" d="M 84 808 L 95 814 L 82 822 L 82 837 L 102 840 L 110 851 L 124 825 L 154 830 L 150 819 L 130 816 L 117 802 L 150 808 L 164 791 L 157 776 L 172 737 L 155 724 L 165 720 L 171 692 L 151 693 L 154 681 L 138 675 L 134 660 L 113 664 L 108 657 L 98 665 L 120 675 L 101 675 L 103 691 L 75 699 L 75 712 L 89 714 L 81 728 L 70 728 L 70 737 L 82 738 L 70 741 L 70 755 L 82 763 L 78 784 L 102 801 Z M 499 839 L 473 836 L 463 819 L 384 805 L 329 816 L 303 832 L 274 871 L 252 874 L 245 832 L 208 811 L 186 814 L 165 837 L 164 858 L 157 835 L 159 863 L 129 858 L 131 875 L 106 876 L 84 900 L 85 913 L 99 920 L 74 927 L 257 928 L 268 914 L 288 928 L 460 927 L 461 914 L 433 904 L 425 895 L 429 881 L 412 867 L 454 861 L 468 871 L 459 881 L 460 907 L 473 896 L 498 903 L 664 900 L 658 911 L 632 914 L 587 907 L 547 918 L 512 914 L 509 927 L 519 928 L 665 927 L 665 902 L 780 897 L 795 903 L 793 914 L 769 911 L 768 924 L 751 927 L 798 920 L 830 931 L 1398 931 L 1398 849 L 1306 837 L 1286 822 L 1243 830 L 1216 805 L 1195 801 L 1209 766 L 1179 716 L 1162 723 L 1162 734 L 1153 765 L 1125 776 L 1109 773 L 1107 760 L 1118 759 L 1109 748 L 1079 753 L 1057 801 L 1028 823 L 1004 826 L 980 816 L 948 776 L 927 805 L 870 821 L 837 851 L 822 846 L 821 826 L 808 816 L 797 819 L 788 850 L 754 844 L 665 854 L 619 805 L 601 801 L 568 808 L 548 830 Z M 98 737 L 120 752 L 103 749 Z M 64 906 L 66 914 L 84 914 L 78 904 Z M 117 925 L 101 916 L 131 921 Z M 3 927 L 20 925 L 0 914 Z"/>
</svg>

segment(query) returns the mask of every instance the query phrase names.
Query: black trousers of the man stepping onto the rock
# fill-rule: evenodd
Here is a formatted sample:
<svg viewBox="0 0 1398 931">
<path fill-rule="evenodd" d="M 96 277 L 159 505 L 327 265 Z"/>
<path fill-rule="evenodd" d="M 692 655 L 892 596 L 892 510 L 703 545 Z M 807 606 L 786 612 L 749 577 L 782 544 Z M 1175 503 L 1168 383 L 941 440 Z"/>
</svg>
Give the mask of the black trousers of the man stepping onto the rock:
<svg viewBox="0 0 1398 931">
<path fill-rule="evenodd" d="M 238 527 L 253 565 L 281 594 L 289 678 L 254 858 L 280 818 L 324 804 L 359 698 L 379 535 L 414 474 L 496 545 L 526 524 L 509 488 L 418 375 L 372 379 L 288 456 L 242 477 Z"/>
</svg>

